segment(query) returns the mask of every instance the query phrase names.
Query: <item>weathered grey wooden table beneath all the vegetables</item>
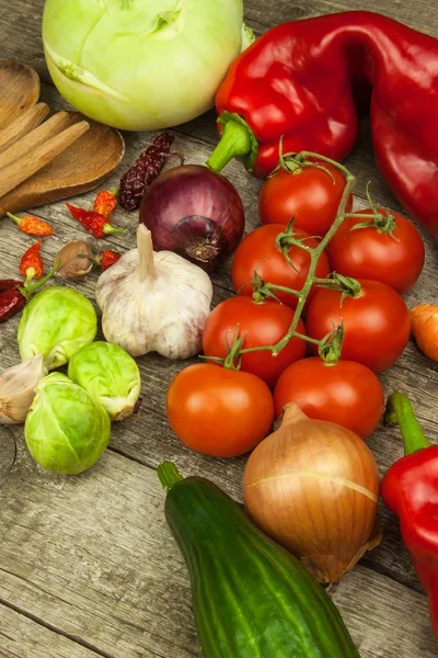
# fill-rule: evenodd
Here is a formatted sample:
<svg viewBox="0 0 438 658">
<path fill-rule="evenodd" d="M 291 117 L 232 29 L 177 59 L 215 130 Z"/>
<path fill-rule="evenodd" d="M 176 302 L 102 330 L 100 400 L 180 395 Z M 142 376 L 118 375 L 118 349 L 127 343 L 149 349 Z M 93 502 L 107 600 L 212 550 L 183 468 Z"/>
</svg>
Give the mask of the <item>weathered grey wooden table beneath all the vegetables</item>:
<svg viewBox="0 0 438 658">
<path fill-rule="evenodd" d="M 346 9 L 361 0 L 246 0 L 246 21 L 257 33 L 281 21 Z M 436 0 L 376 0 L 376 11 L 403 20 L 438 37 Z M 25 61 L 43 80 L 42 99 L 62 102 L 50 84 L 41 42 L 43 0 L 0 0 L 0 57 Z M 212 112 L 174 131 L 177 150 L 188 162 L 203 163 L 216 143 Z M 126 135 L 122 171 L 149 143 L 148 134 Z M 349 158 L 358 177 L 357 206 L 365 185 L 380 203 L 397 204 L 381 180 L 372 157 L 368 126 Z M 260 183 L 237 163 L 227 174 L 240 190 L 247 229 L 257 225 Z M 110 181 L 116 186 L 117 177 Z M 84 204 L 93 198 L 81 198 Z M 39 211 L 54 224 L 56 237 L 45 240 L 50 262 L 62 243 L 83 236 L 62 203 Z M 113 246 L 134 246 L 136 216 L 117 211 L 115 223 L 128 229 Z M 407 302 L 437 299 L 438 252 L 425 236 L 427 262 Z M 19 256 L 31 239 L 10 222 L 0 225 L 0 276 L 14 276 Z M 93 298 L 96 273 L 78 285 Z M 215 304 L 232 294 L 229 268 L 214 275 Z M 19 361 L 16 319 L 1 325 L 0 366 Z M 56 477 L 38 469 L 24 446 L 22 428 L 13 429 L 16 457 L 0 488 L 0 656 L 4 658 L 193 658 L 200 656 L 191 610 L 186 568 L 163 518 L 164 495 L 155 466 L 176 462 L 183 474 L 212 478 L 241 498 L 244 460 L 217 461 L 184 450 L 168 427 L 165 392 L 184 366 L 149 355 L 139 360 L 143 405 L 139 416 L 114 426 L 111 447 L 81 477 Z M 437 366 L 413 343 L 397 365 L 382 377 L 388 393 L 400 389 L 413 399 L 428 435 L 438 438 Z M 0 436 L 0 449 L 4 439 Z M 395 430 L 379 428 L 369 441 L 383 474 L 402 454 Z M 1 468 L 0 468 L 1 473 Z M 339 606 L 362 658 L 433 658 L 437 646 L 429 628 L 427 600 L 395 519 L 383 508 L 384 540 L 338 587 Z M 281 658 L 281 657 L 278 657 Z M 333 657 L 336 658 L 336 657 Z M 341 657 L 338 657 L 341 658 Z"/>
</svg>

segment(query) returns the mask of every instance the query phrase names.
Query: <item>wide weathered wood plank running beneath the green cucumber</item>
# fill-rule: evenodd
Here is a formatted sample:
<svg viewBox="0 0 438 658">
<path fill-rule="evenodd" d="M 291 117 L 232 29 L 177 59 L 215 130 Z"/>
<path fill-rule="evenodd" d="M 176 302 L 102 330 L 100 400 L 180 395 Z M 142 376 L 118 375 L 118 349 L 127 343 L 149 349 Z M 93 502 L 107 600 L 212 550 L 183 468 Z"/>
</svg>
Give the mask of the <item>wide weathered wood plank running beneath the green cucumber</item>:
<svg viewBox="0 0 438 658">
<path fill-rule="evenodd" d="M 155 473 L 123 456 L 62 478 L 20 444 L 0 491 L 1 600 L 112 658 L 200 656 L 163 499 Z M 436 656 L 423 594 L 359 567 L 334 600 L 361 658 Z"/>
</svg>

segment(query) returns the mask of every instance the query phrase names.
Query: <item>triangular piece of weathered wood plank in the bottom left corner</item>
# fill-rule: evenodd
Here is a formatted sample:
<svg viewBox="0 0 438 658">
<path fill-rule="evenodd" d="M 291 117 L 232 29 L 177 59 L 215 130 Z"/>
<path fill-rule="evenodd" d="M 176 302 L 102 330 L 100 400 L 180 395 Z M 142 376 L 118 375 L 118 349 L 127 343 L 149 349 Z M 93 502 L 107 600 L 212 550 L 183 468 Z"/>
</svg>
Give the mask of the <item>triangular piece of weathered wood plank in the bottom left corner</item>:
<svg viewBox="0 0 438 658">
<path fill-rule="evenodd" d="M 2 658 L 99 658 L 99 654 L 0 603 Z"/>
</svg>

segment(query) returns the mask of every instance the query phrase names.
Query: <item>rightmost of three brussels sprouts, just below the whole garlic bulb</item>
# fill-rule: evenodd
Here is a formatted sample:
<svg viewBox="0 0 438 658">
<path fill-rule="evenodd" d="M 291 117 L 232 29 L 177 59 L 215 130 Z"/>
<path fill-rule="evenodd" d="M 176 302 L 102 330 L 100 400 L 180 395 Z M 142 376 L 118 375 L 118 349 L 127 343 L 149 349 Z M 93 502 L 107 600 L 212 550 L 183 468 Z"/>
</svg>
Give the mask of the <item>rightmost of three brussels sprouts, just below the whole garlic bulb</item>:
<svg viewBox="0 0 438 658">
<path fill-rule="evenodd" d="M 137 363 L 114 343 L 97 341 L 81 348 L 70 361 L 68 375 L 101 402 L 112 420 L 130 416 L 140 397 Z"/>
</svg>

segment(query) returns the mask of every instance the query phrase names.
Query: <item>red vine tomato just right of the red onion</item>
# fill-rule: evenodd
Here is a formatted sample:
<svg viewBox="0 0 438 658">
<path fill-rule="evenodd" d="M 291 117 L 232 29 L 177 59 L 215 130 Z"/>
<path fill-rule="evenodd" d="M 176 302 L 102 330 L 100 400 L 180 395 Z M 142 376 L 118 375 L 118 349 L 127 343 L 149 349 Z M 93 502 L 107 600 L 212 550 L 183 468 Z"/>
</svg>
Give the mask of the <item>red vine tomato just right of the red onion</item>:
<svg viewBox="0 0 438 658">
<path fill-rule="evenodd" d="M 284 232 L 285 227 L 280 224 L 269 224 L 252 230 L 239 245 L 231 266 L 231 279 L 239 295 L 252 296 L 254 288 L 252 281 L 254 270 L 262 276 L 265 283 L 273 283 L 300 291 L 306 283 L 310 256 L 300 247 L 291 246 L 288 254 L 293 262 L 291 268 L 284 253 L 276 245 L 276 238 Z M 296 237 L 304 238 L 308 234 L 302 230 L 296 231 Z M 309 247 L 316 247 L 318 240 L 309 238 L 306 241 Z M 316 266 L 316 276 L 324 279 L 330 272 L 328 258 L 322 253 Z M 298 297 L 289 293 L 274 291 L 276 297 L 291 308 L 297 307 Z M 313 291 L 311 291 L 312 295 Z M 311 298 L 309 295 L 309 299 Z"/>
</svg>

